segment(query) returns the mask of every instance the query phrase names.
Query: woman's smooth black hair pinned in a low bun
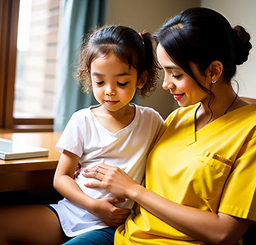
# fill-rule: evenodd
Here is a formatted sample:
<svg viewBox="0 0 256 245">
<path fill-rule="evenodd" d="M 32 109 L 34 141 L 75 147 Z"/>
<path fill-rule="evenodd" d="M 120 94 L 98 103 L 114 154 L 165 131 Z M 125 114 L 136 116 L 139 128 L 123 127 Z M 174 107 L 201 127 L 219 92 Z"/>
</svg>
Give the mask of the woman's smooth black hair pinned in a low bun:
<svg viewBox="0 0 256 245">
<path fill-rule="evenodd" d="M 213 61 L 220 61 L 224 79 L 230 82 L 236 74 L 236 66 L 248 59 L 252 48 L 250 34 L 242 26 L 232 28 L 223 15 L 207 8 L 181 11 L 164 23 L 153 37 L 200 89 L 210 94 L 208 106 L 215 96 L 195 78 L 189 61 L 195 63 L 204 76 Z"/>
</svg>

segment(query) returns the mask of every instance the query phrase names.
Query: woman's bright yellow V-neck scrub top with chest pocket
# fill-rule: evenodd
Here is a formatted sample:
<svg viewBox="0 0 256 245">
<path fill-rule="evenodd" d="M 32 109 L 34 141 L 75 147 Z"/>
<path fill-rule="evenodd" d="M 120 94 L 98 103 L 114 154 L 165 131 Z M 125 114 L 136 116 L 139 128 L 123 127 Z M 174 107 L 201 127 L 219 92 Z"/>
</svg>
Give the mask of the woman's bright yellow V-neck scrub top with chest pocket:
<svg viewBox="0 0 256 245">
<path fill-rule="evenodd" d="M 178 108 L 166 119 L 148 156 L 145 187 L 180 205 L 256 221 L 256 105 L 230 111 L 195 132 L 199 105 Z M 206 244 L 143 207 L 117 229 L 114 241 Z"/>
</svg>

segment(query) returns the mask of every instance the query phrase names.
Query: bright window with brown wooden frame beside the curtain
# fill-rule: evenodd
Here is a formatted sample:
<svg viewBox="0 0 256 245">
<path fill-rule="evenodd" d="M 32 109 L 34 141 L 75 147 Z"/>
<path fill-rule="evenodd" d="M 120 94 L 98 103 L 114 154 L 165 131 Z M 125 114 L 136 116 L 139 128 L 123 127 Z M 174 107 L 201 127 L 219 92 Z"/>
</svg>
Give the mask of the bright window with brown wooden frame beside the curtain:
<svg viewBox="0 0 256 245">
<path fill-rule="evenodd" d="M 52 131 L 60 0 L 0 0 L 0 128 Z"/>
</svg>

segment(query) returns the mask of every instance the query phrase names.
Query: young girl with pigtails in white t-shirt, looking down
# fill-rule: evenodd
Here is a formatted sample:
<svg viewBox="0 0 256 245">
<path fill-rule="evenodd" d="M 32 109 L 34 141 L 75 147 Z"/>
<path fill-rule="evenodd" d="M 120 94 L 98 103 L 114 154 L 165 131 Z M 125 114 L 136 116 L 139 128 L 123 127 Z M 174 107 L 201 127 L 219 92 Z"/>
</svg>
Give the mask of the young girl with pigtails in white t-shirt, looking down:
<svg viewBox="0 0 256 245">
<path fill-rule="evenodd" d="M 76 111 L 56 145 L 62 154 L 54 187 L 65 198 L 54 205 L 1 209 L 1 245 L 58 245 L 93 230 L 98 234 L 95 242 L 113 243 L 114 227 L 131 213 L 133 201 L 87 188 L 94 179 L 73 175 L 78 163 L 81 173 L 106 163 L 142 182 L 146 157 L 163 125 L 154 109 L 130 103 L 136 91 L 144 97 L 155 90 L 157 63 L 151 35 L 105 26 L 82 47 L 79 83 L 86 92 L 93 89 L 100 105 Z"/>
</svg>

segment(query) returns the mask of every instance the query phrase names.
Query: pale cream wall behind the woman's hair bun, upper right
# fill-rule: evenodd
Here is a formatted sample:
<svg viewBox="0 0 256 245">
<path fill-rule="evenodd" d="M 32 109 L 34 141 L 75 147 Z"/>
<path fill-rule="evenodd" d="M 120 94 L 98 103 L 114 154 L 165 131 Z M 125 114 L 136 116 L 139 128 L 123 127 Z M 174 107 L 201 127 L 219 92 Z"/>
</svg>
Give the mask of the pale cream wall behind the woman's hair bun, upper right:
<svg viewBox="0 0 256 245">
<path fill-rule="evenodd" d="M 255 0 L 201 0 L 201 6 L 215 9 L 230 21 L 249 31 L 253 48 L 250 57 L 238 70 L 235 79 L 239 83 L 239 95 L 256 99 L 256 1 Z"/>
</svg>

